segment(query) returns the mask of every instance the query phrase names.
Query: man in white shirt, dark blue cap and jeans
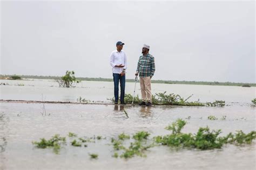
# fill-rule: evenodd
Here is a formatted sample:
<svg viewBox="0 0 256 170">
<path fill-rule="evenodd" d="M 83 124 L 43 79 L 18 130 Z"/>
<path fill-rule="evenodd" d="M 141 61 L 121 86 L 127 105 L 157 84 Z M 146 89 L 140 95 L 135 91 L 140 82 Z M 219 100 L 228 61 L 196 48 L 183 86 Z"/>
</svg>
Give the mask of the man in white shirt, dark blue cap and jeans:
<svg viewBox="0 0 256 170">
<path fill-rule="evenodd" d="M 127 59 L 126 54 L 123 49 L 124 43 L 118 41 L 116 46 L 117 49 L 114 50 L 110 55 L 110 65 L 113 72 L 113 81 L 114 81 L 114 104 L 118 104 L 118 85 L 120 80 L 121 94 L 120 94 L 120 103 L 124 103 L 124 94 L 125 94 L 125 69 L 127 68 Z"/>
</svg>

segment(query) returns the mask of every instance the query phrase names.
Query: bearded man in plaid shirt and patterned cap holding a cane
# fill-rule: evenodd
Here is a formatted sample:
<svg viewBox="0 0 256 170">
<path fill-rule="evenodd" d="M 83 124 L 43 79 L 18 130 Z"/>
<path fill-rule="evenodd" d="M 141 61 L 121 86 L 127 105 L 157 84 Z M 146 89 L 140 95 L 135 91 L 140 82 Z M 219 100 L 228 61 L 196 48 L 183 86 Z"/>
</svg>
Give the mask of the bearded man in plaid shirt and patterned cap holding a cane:
<svg viewBox="0 0 256 170">
<path fill-rule="evenodd" d="M 138 66 L 135 75 L 139 74 L 140 90 L 142 92 L 142 102 L 139 105 L 152 105 L 151 78 L 154 75 L 156 66 L 153 55 L 149 54 L 149 45 L 142 48 L 143 55 L 139 57 Z M 146 103 L 147 100 L 147 103 Z"/>
</svg>

